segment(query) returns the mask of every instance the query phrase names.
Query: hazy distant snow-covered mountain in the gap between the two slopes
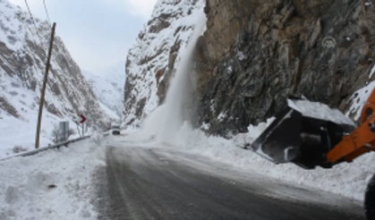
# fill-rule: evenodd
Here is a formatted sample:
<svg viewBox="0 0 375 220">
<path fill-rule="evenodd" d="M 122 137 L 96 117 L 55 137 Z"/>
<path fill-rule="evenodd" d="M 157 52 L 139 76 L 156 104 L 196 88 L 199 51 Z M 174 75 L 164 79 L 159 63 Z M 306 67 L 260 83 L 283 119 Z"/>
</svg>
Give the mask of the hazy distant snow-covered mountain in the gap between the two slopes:
<svg viewBox="0 0 375 220">
<path fill-rule="evenodd" d="M 96 72 L 82 71 L 86 80 L 92 85 L 100 103 L 121 117 L 124 108 L 124 62 Z"/>
</svg>

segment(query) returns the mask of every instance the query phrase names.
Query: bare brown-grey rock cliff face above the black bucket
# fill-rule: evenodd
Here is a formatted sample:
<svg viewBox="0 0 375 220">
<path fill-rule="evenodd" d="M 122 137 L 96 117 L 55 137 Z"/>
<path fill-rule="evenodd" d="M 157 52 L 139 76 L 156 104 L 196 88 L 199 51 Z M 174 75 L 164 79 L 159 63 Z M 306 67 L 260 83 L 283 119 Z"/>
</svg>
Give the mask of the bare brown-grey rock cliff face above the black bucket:
<svg viewBox="0 0 375 220">
<path fill-rule="evenodd" d="M 207 0 L 196 48 L 200 123 L 246 131 L 304 96 L 347 110 L 375 58 L 375 5 L 356 0 Z"/>
</svg>

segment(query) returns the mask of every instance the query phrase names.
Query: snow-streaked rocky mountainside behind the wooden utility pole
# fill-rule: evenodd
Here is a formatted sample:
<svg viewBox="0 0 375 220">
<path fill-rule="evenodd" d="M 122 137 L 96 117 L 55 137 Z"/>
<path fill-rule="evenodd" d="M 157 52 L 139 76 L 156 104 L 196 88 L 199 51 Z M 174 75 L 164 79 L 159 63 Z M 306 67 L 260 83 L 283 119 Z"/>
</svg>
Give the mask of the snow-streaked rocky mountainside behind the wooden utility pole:
<svg viewBox="0 0 375 220">
<path fill-rule="evenodd" d="M 51 25 L 31 18 L 30 13 L 23 12 L 7 0 L 0 0 L 0 8 L 2 157 L 11 154 L 14 147 L 27 149 L 34 146 Z M 69 121 L 70 127 L 75 129 L 80 114 L 88 118 L 86 124 L 90 127 L 107 127 L 111 117 L 101 109 L 80 67 L 57 36 L 50 67 L 40 146 L 51 142 L 51 130 L 59 121 Z"/>
</svg>

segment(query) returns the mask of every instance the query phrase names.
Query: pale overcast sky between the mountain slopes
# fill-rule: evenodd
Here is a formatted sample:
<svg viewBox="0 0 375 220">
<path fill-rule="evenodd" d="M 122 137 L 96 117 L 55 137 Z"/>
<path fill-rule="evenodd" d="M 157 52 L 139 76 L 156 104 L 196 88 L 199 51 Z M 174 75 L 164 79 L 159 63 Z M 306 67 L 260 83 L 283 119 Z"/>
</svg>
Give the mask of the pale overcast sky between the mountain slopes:
<svg viewBox="0 0 375 220">
<path fill-rule="evenodd" d="M 9 0 L 26 9 L 24 0 Z M 125 62 L 157 0 L 45 0 L 56 34 L 81 69 Z M 28 0 L 31 13 L 47 20 L 43 0 Z"/>
</svg>

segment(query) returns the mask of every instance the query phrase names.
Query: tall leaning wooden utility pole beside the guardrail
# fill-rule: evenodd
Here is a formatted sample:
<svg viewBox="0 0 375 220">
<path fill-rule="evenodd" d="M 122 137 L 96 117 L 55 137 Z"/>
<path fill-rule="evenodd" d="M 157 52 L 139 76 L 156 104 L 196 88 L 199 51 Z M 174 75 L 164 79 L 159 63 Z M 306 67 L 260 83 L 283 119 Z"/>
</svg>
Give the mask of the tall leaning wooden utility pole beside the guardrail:
<svg viewBox="0 0 375 220">
<path fill-rule="evenodd" d="M 48 71 L 49 71 L 49 63 L 51 61 L 52 55 L 52 47 L 54 46 L 54 38 L 55 38 L 55 28 L 56 23 L 52 26 L 52 34 L 51 39 L 49 41 L 49 48 L 48 48 L 48 56 L 47 56 L 47 63 L 46 63 L 46 73 L 44 75 L 43 87 L 40 94 L 40 102 L 39 102 L 39 113 L 38 113 L 38 125 L 37 125 L 37 137 L 35 139 L 35 148 L 39 148 L 39 137 L 40 137 L 40 126 L 42 123 L 42 112 L 44 106 L 44 96 L 46 94 L 46 87 L 47 87 L 47 80 L 48 80 Z"/>
</svg>

